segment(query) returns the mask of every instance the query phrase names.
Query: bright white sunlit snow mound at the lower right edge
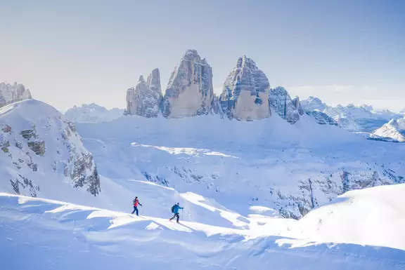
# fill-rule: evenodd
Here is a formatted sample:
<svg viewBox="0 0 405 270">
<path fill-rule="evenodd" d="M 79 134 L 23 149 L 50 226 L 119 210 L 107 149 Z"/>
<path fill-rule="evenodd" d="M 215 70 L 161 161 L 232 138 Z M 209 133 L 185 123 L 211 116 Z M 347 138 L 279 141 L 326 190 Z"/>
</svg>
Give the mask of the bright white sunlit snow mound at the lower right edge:
<svg viewBox="0 0 405 270">
<path fill-rule="evenodd" d="M 405 250 L 405 184 L 349 191 L 309 212 L 300 230 L 311 241 Z M 404 257 L 405 259 L 405 257 Z"/>
</svg>

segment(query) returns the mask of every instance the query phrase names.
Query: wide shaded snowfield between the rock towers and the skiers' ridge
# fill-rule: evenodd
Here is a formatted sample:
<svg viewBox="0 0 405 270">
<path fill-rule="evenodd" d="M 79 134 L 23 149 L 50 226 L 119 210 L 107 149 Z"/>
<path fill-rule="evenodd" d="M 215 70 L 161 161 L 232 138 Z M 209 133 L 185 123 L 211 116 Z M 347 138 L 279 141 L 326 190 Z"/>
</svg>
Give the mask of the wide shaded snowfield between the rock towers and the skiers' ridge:
<svg viewBox="0 0 405 270">
<path fill-rule="evenodd" d="M 405 176 L 405 144 L 365 140 L 306 114 L 294 125 L 277 114 L 247 122 L 125 116 L 77 130 L 101 175 L 191 191 L 242 214 L 261 203 L 302 217 L 345 191 Z"/>
</svg>

